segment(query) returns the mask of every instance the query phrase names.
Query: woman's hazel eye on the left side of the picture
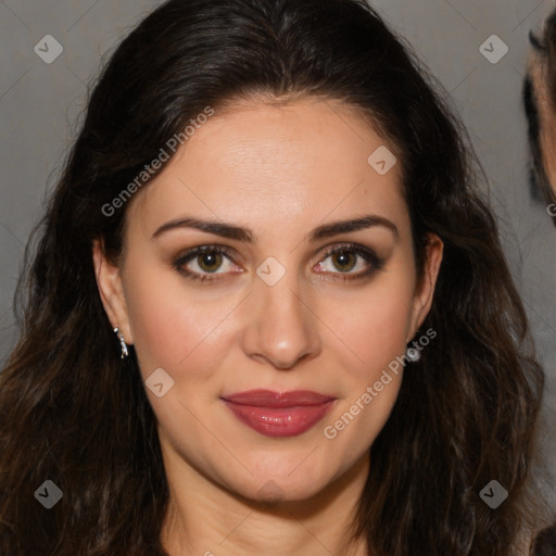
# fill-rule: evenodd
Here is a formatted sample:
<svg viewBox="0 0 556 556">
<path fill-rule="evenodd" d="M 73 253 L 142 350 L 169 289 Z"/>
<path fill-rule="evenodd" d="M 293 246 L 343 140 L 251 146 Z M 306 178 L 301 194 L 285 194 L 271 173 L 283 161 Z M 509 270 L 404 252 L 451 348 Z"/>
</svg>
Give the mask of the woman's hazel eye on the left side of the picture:
<svg viewBox="0 0 556 556">
<path fill-rule="evenodd" d="M 214 280 L 211 275 L 233 271 L 231 250 L 224 245 L 201 245 L 188 251 L 173 266 L 193 280 Z"/>
</svg>

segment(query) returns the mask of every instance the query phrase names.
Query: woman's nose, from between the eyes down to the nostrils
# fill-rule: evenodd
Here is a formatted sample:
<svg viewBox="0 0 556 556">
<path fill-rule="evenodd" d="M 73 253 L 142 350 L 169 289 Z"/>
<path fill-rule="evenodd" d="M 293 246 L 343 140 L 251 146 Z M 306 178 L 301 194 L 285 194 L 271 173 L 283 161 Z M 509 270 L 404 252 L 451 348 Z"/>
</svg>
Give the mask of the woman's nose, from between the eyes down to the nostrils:
<svg viewBox="0 0 556 556">
<path fill-rule="evenodd" d="M 274 286 L 256 278 L 243 334 L 250 357 L 289 370 L 320 352 L 318 317 L 299 292 L 294 273 L 286 273 Z"/>
</svg>

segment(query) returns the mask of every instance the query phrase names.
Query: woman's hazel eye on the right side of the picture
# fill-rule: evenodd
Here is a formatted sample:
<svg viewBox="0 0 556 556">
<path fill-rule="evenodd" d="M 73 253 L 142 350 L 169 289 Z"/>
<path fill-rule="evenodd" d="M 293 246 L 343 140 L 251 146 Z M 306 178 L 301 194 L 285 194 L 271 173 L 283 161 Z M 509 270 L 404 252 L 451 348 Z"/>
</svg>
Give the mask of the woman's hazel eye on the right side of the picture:
<svg viewBox="0 0 556 556">
<path fill-rule="evenodd" d="M 329 261 L 328 261 L 329 260 Z M 328 261 L 328 263 L 327 263 Z M 369 276 L 384 266 L 384 261 L 372 250 L 353 243 L 337 245 L 325 253 L 325 258 L 316 266 L 318 273 L 346 275 L 343 279 Z M 354 271 L 355 270 L 355 271 Z"/>
</svg>

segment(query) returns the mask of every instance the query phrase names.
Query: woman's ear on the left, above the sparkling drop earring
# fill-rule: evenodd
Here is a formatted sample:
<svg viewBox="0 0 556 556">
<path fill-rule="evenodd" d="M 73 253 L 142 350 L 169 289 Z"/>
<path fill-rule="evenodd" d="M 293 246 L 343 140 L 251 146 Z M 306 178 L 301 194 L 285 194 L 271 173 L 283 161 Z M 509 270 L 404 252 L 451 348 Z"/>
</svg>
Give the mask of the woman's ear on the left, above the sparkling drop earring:
<svg viewBox="0 0 556 556">
<path fill-rule="evenodd" d="M 93 240 L 92 242 L 92 262 L 100 299 L 112 328 L 119 328 L 126 343 L 131 344 L 134 338 L 129 327 L 121 268 L 108 261 L 104 254 L 104 244 L 101 240 Z"/>
</svg>

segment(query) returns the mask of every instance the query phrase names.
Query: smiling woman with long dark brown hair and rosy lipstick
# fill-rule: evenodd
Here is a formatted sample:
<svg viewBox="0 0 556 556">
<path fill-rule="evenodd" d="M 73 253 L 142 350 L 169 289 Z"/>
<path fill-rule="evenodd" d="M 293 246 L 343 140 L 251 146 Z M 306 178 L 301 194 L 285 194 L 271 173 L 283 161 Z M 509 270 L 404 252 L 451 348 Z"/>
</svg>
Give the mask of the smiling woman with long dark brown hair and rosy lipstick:
<svg viewBox="0 0 556 556">
<path fill-rule="evenodd" d="M 526 554 L 543 374 L 462 135 L 362 1 L 148 16 L 28 254 L 0 554 Z"/>
</svg>

